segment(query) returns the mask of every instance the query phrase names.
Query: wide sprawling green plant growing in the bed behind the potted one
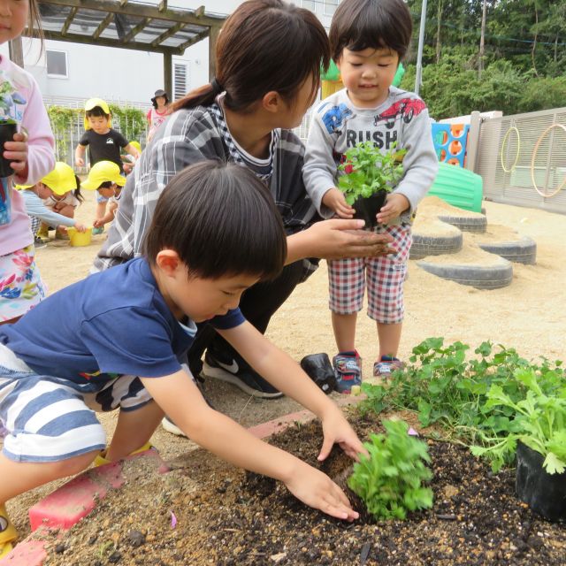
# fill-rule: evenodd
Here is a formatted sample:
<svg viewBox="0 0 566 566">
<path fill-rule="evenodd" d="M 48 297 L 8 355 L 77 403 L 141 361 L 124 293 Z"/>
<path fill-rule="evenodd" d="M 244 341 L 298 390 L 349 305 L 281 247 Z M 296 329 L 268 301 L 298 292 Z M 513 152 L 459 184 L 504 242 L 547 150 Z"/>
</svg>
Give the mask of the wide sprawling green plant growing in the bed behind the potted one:
<svg viewBox="0 0 566 566">
<path fill-rule="evenodd" d="M 413 348 L 413 355 L 403 371 L 395 371 L 388 386 L 363 384 L 366 399 L 360 404 L 363 412 L 413 410 L 423 426 L 437 426 L 439 438 L 465 446 L 490 447 L 508 442 L 493 456 L 493 467 L 512 463 L 516 437 L 522 422 L 516 420 L 516 409 L 509 404 L 487 403 L 490 388 L 498 386 L 509 401 L 525 398 L 527 387 L 517 379 L 519 371 L 532 371 L 548 397 L 560 396 L 564 384 L 562 362 L 532 363 L 519 356 L 515 349 L 483 342 L 469 357 L 470 346 L 462 342 L 444 345 L 442 338 L 428 338 Z M 479 450 L 477 450 L 479 454 Z M 492 452 L 486 452 L 491 457 Z"/>
</svg>

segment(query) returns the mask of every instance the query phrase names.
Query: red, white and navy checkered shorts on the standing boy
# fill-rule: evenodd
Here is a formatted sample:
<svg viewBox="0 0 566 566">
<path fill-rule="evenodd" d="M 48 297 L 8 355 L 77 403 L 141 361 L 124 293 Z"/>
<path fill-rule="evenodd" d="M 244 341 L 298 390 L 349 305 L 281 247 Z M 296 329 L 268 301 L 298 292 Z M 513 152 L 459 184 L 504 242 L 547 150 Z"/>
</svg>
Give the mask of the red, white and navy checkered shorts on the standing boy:
<svg viewBox="0 0 566 566">
<path fill-rule="evenodd" d="M 377 229 L 376 229 L 377 230 Z M 396 254 L 379 257 L 348 257 L 328 261 L 330 310 L 350 315 L 362 310 L 368 288 L 368 317 L 383 324 L 402 322 L 403 284 L 412 243 L 410 226 L 387 226 L 382 233 L 393 236 Z"/>
</svg>

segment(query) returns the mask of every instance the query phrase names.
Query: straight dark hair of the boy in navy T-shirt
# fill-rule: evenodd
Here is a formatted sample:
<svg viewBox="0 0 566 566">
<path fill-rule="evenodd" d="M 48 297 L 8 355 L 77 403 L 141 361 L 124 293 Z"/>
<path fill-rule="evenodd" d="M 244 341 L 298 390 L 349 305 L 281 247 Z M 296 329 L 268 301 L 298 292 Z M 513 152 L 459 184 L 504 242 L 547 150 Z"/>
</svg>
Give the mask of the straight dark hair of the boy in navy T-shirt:
<svg viewBox="0 0 566 566">
<path fill-rule="evenodd" d="M 174 249 L 203 279 L 241 273 L 273 279 L 285 264 L 287 235 L 253 172 L 210 160 L 175 175 L 159 196 L 145 240 L 150 264 L 162 249 Z"/>
</svg>

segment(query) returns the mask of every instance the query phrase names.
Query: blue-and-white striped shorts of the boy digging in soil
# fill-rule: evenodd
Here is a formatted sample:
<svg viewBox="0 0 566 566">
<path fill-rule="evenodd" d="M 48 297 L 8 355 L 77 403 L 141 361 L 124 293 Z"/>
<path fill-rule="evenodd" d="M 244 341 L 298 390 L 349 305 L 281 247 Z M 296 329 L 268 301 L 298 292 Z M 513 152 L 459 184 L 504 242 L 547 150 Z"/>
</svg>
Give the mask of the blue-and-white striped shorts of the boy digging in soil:
<svg viewBox="0 0 566 566">
<path fill-rule="evenodd" d="M 141 379 L 75 384 L 32 371 L 0 344 L 3 454 L 14 462 L 58 462 L 106 447 L 96 412 L 140 409 L 151 401 Z"/>
</svg>

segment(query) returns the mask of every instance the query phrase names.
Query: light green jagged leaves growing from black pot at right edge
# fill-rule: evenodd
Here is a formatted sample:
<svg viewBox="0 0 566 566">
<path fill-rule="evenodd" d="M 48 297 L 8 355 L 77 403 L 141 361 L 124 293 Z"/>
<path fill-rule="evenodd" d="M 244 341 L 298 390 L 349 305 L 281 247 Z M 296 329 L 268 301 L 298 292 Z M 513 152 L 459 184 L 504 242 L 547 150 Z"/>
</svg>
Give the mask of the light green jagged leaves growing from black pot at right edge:
<svg viewBox="0 0 566 566">
<path fill-rule="evenodd" d="M 566 381 L 559 379 L 552 394 L 545 394 L 541 379 L 544 376 L 536 371 L 516 370 L 514 377 L 524 385 L 525 394 L 520 401 L 514 401 L 500 385 L 493 384 L 485 403 L 486 409 L 513 411 L 509 434 L 503 439 L 484 437 L 487 446 L 472 446 L 471 452 L 491 458 L 493 470 L 497 471 L 515 454 L 516 442 L 521 440 L 545 457 L 542 465 L 549 474 L 561 474 L 566 470 Z"/>
</svg>

